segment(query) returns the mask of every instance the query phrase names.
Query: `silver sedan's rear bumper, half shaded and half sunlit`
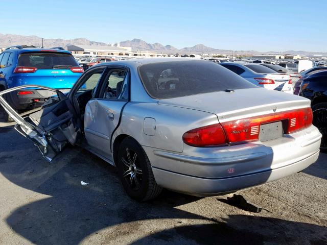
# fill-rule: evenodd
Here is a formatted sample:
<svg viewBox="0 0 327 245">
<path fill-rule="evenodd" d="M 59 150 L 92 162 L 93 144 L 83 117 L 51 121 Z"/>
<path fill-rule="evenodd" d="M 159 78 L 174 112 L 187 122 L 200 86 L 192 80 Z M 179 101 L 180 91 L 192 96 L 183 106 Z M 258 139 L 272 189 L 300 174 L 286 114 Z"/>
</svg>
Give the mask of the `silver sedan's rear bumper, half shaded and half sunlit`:
<svg viewBox="0 0 327 245">
<path fill-rule="evenodd" d="M 221 148 L 184 145 L 183 153 L 143 146 L 158 185 L 193 195 L 234 192 L 284 178 L 308 167 L 319 155 L 314 126 L 264 143 Z"/>
</svg>

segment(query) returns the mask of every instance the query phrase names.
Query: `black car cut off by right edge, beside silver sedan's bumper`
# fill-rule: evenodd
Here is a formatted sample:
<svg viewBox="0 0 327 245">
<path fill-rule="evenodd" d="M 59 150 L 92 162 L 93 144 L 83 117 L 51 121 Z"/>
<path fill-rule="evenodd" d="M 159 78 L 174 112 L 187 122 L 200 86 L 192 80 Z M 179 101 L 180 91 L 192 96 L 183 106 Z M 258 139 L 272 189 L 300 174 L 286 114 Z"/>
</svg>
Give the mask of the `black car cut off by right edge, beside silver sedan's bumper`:
<svg viewBox="0 0 327 245">
<path fill-rule="evenodd" d="M 322 134 L 320 149 L 327 151 L 327 70 L 302 80 L 299 95 L 311 100 L 313 125 Z"/>
</svg>

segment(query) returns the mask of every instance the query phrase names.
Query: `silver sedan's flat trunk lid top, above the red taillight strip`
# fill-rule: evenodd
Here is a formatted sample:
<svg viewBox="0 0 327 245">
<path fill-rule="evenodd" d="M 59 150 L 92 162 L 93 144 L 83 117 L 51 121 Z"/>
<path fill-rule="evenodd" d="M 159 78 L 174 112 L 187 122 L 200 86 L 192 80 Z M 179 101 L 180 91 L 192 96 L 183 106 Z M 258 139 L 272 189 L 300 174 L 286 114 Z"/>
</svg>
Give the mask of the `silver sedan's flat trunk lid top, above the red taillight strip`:
<svg viewBox="0 0 327 245">
<path fill-rule="evenodd" d="M 162 99 L 158 104 L 213 113 L 220 122 L 225 122 L 310 107 L 310 100 L 275 90 L 249 88 Z"/>
</svg>

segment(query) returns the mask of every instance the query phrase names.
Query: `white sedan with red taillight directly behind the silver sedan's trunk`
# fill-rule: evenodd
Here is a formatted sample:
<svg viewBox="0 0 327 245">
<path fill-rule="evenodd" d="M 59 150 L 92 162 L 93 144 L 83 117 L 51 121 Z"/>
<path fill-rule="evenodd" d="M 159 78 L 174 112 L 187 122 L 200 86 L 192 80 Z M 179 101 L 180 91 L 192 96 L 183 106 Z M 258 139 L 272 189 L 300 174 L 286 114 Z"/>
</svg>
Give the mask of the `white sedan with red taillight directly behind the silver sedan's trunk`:
<svg viewBox="0 0 327 245">
<path fill-rule="evenodd" d="M 220 65 L 235 72 L 256 86 L 293 94 L 292 80 L 289 75 L 280 74 L 262 64 L 225 62 Z"/>
</svg>

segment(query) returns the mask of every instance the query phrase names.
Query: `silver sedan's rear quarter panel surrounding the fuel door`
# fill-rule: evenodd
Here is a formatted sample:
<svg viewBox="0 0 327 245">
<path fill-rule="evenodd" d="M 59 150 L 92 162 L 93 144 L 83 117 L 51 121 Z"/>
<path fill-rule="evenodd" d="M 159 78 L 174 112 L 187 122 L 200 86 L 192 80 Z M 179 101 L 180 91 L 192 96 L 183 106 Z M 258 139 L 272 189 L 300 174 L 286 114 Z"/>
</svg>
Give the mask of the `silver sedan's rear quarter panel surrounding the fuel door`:
<svg viewBox="0 0 327 245">
<path fill-rule="evenodd" d="M 144 119 L 154 118 L 155 134 L 146 135 Z M 182 135 L 195 128 L 218 123 L 215 114 L 157 103 L 128 103 L 121 117 L 121 124 L 114 132 L 111 142 L 121 134 L 126 134 L 144 146 L 182 152 Z"/>
</svg>

